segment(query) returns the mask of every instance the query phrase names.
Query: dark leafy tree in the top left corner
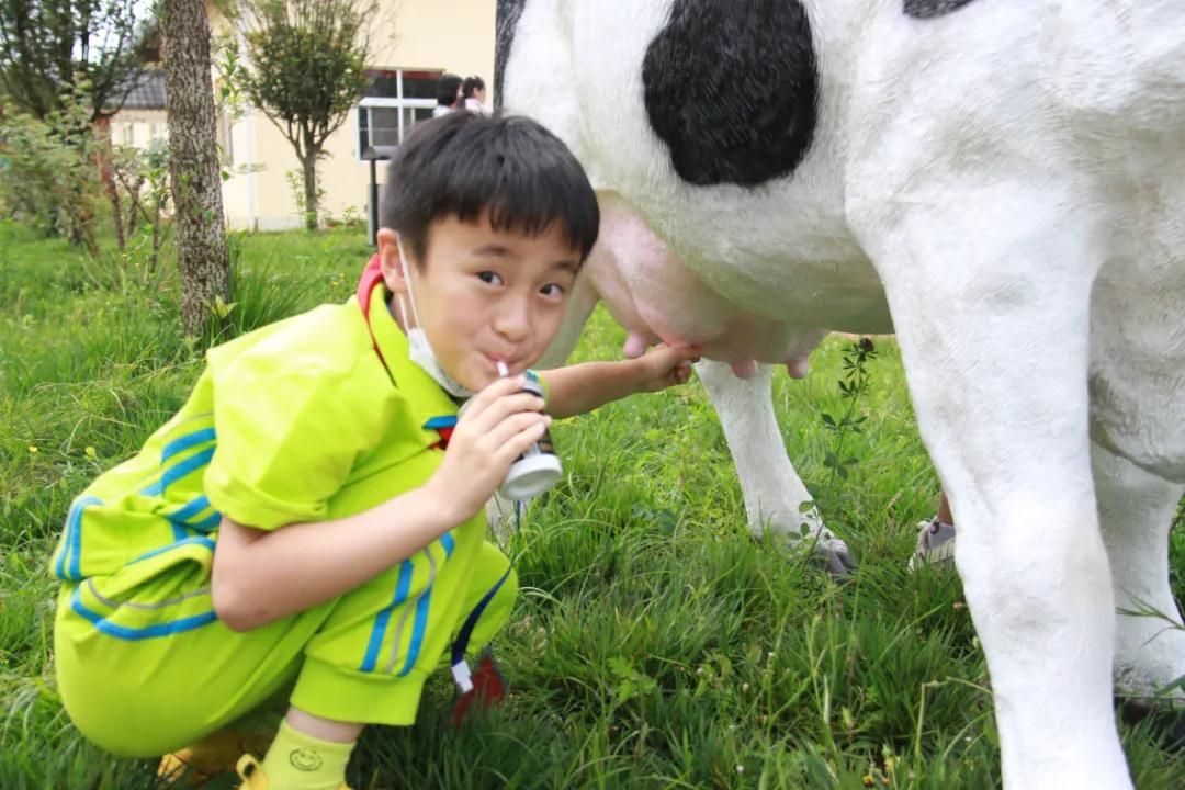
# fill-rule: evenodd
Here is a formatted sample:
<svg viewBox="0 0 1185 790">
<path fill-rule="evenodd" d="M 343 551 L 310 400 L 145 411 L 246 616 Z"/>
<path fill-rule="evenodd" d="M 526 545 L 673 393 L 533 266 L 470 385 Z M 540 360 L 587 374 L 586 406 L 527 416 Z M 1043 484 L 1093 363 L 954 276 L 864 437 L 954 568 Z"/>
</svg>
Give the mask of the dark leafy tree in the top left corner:
<svg viewBox="0 0 1185 790">
<path fill-rule="evenodd" d="M 135 85 L 149 9 L 142 0 L 0 0 L 0 94 L 43 121 L 79 90 L 89 121 L 114 115 Z"/>
</svg>

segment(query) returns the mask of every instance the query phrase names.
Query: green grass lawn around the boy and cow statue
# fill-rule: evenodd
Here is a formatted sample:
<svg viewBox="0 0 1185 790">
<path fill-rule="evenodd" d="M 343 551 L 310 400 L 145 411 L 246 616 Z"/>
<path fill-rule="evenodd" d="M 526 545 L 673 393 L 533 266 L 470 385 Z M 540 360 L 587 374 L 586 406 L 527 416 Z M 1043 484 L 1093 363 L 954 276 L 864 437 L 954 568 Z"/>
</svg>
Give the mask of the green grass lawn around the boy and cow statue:
<svg viewBox="0 0 1185 790">
<path fill-rule="evenodd" d="M 235 330 L 353 290 L 358 231 L 236 237 Z M 177 322 L 173 264 L 85 261 L 0 225 L 0 788 L 152 788 L 153 764 L 104 756 L 55 692 L 46 560 L 70 500 L 184 400 L 200 354 Z M 579 359 L 620 355 L 598 310 Z M 822 460 L 844 341 L 803 381 L 776 377 L 787 447 L 860 570 L 837 586 L 749 535 L 720 426 L 698 384 L 557 424 L 568 470 L 507 550 L 523 593 L 499 640 L 514 687 L 460 732 L 447 676 L 421 719 L 373 728 L 358 788 L 994 788 L 984 656 L 957 579 L 905 572 L 937 484 L 896 346 L 878 341 L 866 431 Z M 36 450 L 34 450 L 36 448 Z M 1178 525 L 1185 512 L 1178 514 Z M 1185 531 L 1172 542 L 1185 591 Z M 1185 757 L 1123 727 L 1140 788 L 1178 786 Z M 212 783 L 211 786 L 232 786 Z"/>
</svg>

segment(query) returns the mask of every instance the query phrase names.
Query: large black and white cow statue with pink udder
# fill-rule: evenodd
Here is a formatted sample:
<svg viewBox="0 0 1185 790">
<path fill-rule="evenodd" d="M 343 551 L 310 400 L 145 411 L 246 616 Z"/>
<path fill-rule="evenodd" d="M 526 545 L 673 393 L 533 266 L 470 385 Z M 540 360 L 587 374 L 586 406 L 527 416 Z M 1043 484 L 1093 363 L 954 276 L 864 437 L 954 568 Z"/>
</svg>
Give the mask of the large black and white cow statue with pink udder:
<svg viewBox="0 0 1185 790">
<path fill-rule="evenodd" d="M 750 510 L 781 501 L 768 364 L 897 333 L 1005 784 L 1130 786 L 1113 666 L 1185 674 L 1185 631 L 1116 616 L 1180 623 L 1185 2 L 500 0 L 499 56 L 604 199 L 589 283 L 630 351 L 722 361 Z"/>
</svg>

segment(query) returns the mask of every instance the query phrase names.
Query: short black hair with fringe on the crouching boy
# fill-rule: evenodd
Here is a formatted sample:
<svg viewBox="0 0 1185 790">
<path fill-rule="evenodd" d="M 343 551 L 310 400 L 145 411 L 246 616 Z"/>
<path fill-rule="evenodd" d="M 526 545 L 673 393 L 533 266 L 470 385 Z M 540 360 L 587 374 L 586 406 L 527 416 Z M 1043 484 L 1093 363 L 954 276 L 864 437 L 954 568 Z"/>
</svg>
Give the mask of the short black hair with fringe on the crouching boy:
<svg viewBox="0 0 1185 790">
<path fill-rule="evenodd" d="M 380 225 L 397 231 L 416 261 L 436 219 L 476 221 L 537 236 L 552 223 L 581 262 L 596 243 L 596 193 L 568 147 L 521 116 L 449 115 L 416 124 L 396 152 L 383 187 Z"/>
</svg>

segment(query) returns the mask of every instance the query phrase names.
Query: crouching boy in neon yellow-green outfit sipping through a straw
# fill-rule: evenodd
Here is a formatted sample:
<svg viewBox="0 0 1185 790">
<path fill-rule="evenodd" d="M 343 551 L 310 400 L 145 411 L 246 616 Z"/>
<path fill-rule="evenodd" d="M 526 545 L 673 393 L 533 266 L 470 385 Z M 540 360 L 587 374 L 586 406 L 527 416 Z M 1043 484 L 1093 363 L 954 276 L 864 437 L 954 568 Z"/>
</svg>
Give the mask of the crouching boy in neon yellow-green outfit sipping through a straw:
<svg viewBox="0 0 1185 790">
<path fill-rule="evenodd" d="M 462 623 L 480 648 L 510 616 L 482 515 L 510 464 L 552 417 L 688 375 L 693 349 L 659 347 L 521 391 L 600 223 L 538 124 L 422 124 L 385 190 L 357 295 L 212 349 L 180 412 L 70 508 L 58 683 L 114 753 L 209 745 L 278 696 L 242 786 L 344 786 L 363 726 L 415 720 Z"/>
</svg>

